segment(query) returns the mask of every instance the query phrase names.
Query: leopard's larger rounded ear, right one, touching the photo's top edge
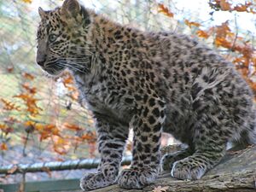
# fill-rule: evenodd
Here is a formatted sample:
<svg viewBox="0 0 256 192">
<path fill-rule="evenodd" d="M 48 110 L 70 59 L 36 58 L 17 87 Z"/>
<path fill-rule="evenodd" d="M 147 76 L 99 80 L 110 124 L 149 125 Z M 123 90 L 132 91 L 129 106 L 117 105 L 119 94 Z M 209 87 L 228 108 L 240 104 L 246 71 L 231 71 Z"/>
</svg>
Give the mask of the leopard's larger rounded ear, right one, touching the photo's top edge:
<svg viewBox="0 0 256 192">
<path fill-rule="evenodd" d="M 68 16 L 76 16 L 79 14 L 81 6 L 77 0 L 65 0 L 62 4 L 61 11 Z"/>
</svg>

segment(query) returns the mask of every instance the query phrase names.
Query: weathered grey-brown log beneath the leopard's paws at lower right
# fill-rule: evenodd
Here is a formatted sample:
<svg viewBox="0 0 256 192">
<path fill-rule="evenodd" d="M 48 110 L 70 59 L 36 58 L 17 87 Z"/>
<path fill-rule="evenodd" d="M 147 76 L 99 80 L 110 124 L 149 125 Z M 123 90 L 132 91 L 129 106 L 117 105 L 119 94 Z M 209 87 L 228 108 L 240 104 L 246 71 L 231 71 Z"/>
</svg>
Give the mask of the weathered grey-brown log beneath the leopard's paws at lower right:
<svg viewBox="0 0 256 192">
<path fill-rule="evenodd" d="M 125 190 L 120 189 L 118 185 L 112 185 L 92 192 L 144 192 L 154 191 L 159 186 L 168 187 L 166 192 L 255 192 L 256 145 L 238 151 L 229 150 L 218 166 L 197 181 L 177 180 L 170 177 L 170 174 L 164 174 L 141 190 Z M 160 192 L 160 190 L 155 191 Z"/>
</svg>

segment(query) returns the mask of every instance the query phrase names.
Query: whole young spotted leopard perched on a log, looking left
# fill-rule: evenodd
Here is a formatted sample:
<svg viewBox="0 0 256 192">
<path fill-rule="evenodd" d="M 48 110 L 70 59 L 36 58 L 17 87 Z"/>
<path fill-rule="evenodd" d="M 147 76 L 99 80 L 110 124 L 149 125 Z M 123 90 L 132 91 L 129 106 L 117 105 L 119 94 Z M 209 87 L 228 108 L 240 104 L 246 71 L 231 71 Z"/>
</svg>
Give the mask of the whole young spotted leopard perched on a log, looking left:
<svg viewBox="0 0 256 192">
<path fill-rule="evenodd" d="M 39 15 L 38 65 L 53 76 L 73 73 L 96 119 L 102 160 L 81 179 L 85 191 L 152 183 L 162 131 L 189 145 L 162 160 L 181 179 L 201 178 L 222 159 L 227 142 L 255 142 L 252 91 L 212 49 L 181 34 L 119 25 L 77 0 Z M 133 160 L 119 172 L 129 128 Z"/>
</svg>

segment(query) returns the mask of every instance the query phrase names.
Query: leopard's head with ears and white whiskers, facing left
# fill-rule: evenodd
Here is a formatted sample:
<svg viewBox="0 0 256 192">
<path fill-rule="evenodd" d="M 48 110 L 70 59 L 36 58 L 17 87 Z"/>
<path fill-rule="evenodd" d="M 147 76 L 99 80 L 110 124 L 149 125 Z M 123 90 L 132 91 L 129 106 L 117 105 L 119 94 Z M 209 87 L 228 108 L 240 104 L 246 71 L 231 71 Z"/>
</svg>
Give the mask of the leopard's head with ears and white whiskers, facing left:
<svg viewBox="0 0 256 192">
<path fill-rule="evenodd" d="M 61 7 L 38 9 L 37 63 L 50 75 L 59 75 L 66 68 L 86 68 L 86 38 L 90 30 L 90 13 L 78 0 L 65 0 Z"/>
</svg>

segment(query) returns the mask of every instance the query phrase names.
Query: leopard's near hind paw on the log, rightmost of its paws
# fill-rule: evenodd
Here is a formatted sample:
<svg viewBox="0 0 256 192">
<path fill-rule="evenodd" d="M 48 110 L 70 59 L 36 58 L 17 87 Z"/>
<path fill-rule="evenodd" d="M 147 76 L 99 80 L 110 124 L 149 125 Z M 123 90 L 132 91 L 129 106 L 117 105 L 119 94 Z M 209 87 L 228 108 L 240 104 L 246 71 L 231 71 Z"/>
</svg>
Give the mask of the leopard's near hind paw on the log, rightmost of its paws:
<svg viewBox="0 0 256 192">
<path fill-rule="evenodd" d="M 207 172 L 207 166 L 203 163 L 186 158 L 176 161 L 172 166 L 172 177 L 183 180 L 200 179 Z"/>
</svg>

